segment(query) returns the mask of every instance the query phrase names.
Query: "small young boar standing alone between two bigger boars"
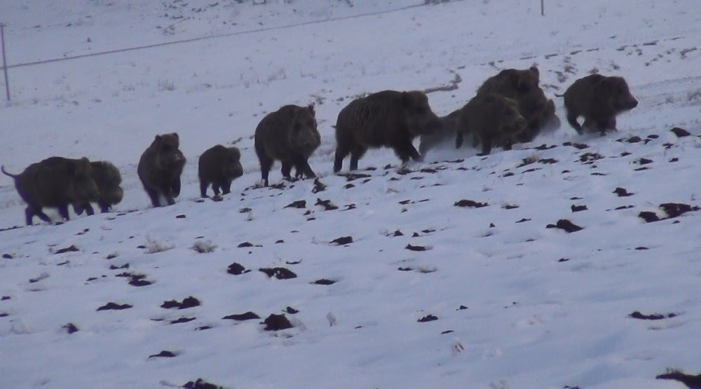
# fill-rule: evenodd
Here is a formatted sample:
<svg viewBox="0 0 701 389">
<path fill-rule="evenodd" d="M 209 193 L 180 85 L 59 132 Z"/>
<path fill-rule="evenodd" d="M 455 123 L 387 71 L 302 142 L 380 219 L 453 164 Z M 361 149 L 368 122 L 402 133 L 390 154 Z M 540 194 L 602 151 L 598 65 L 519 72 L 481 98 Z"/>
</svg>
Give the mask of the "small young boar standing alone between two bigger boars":
<svg viewBox="0 0 701 389">
<path fill-rule="evenodd" d="M 236 147 L 212 146 L 200 156 L 197 172 L 202 197 L 207 197 L 207 186 L 210 184 L 215 196 L 219 196 L 219 189 L 224 194 L 230 193 L 231 182 L 243 175 L 241 152 Z"/>
</svg>

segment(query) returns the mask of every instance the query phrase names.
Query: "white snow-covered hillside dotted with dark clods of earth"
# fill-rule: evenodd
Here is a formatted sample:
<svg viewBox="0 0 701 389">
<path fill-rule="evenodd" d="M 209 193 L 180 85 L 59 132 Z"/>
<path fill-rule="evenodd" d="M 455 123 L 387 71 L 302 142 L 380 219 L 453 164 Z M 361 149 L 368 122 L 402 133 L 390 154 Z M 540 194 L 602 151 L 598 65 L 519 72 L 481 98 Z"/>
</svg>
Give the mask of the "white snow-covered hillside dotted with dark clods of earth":
<svg viewBox="0 0 701 389">
<path fill-rule="evenodd" d="M 1 176 L 0 388 L 657 389 L 686 387 L 655 379 L 667 369 L 701 373 L 697 0 L 545 0 L 545 16 L 537 0 L 9 0 L 0 22 L 0 163 L 107 160 L 125 190 L 110 213 L 23 226 Z M 559 130 L 403 167 L 377 149 L 332 173 L 358 95 L 456 86 L 428 94 L 444 115 L 533 64 Z M 639 100 L 604 137 L 577 135 L 554 96 L 592 72 Z M 277 163 L 261 188 L 257 123 L 311 103 L 319 181 Z M 136 164 L 165 132 L 188 163 L 154 209 Z M 197 179 L 215 144 L 245 171 L 220 202 Z M 292 327 L 266 331 L 271 314 Z"/>
</svg>

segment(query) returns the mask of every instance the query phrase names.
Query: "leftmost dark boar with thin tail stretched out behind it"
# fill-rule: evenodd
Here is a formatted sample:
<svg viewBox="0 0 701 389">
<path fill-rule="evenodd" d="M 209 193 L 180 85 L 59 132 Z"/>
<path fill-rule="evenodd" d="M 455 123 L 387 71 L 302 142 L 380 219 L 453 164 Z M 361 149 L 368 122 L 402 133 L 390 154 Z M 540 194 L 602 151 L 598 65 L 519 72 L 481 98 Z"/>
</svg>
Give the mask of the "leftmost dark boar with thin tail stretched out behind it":
<svg viewBox="0 0 701 389">
<path fill-rule="evenodd" d="M 43 207 L 57 208 L 61 217 L 68 220 L 68 205 L 89 203 L 100 198 L 97 185 L 90 177 L 88 158 L 50 157 L 32 163 L 19 175 L 6 172 L 4 166 L 1 170 L 15 179 L 15 188 L 27 203 L 25 217 L 28 226 L 32 225 L 34 216 L 51 221 L 42 211 Z"/>
</svg>

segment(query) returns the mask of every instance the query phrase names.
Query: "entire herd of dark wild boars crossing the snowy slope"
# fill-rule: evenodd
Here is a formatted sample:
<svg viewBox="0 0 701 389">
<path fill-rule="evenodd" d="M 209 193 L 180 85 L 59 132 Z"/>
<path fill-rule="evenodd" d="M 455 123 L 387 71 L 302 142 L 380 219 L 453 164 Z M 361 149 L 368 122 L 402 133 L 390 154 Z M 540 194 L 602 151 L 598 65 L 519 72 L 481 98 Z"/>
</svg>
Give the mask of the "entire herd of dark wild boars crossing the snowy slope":
<svg viewBox="0 0 701 389">
<path fill-rule="evenodd" d="M 531 142 L 543 130 L 559 128 L 555 105 L 539 86 L 540 72 L 529 69 L 505 69 L 490 77 L 477 89 L 475 97 L 447 116 L 437 116 L 426 93 L 383 90 L 359 97 L 341 109 L 336 119 L 336 153 L 334 172 L 343 167 L 351 155 L 349 170 L 358 169 L 358 160 L 369 148 L 388 147 L 402 160 L 422 161 L 422 156 L 440 142 L 454 139 L 459 149 L 465 137 L 472 136 L 472 146 L 480 146 L 487 155 L 494 146 L 512 149 L 515 143 Z M 592 74 L 575 81 L 563 95 L 567 121 L 578 132 L 615 130 L 616 115 L 637 107 L 625 79 L 619 76 Z M 584 122 L 580 124 L 578 118 Z M 414 138 L 420 137 L 419 150 Z M 137 173 L 154 207 L 175 203 L 180 194 L 180 176 L 186 158 L 179 149 L 179 136 L 156 135 L 139 159 Z M 285 105 L 264 116 L 254 133 L 261 180 L 268 186 L 268 175 L 275 161 L 280 161 L 286 179 L 316 177 L 308 163 L 321 144 L 313 106 Z M 217 144 L 207 149 L 198 161 L 200 195 L 207 197 L 211 185 L 215 196 L 231 192 L 231 182 L 243 175 L 241 153 L 236 147 Z M 69 205 L 76 214 L 94 214 L 90 203 L 101 212 L 109 212 L 122 200 L 119 170 L 107 161 L 90 162 L 88 158 L 50 157 L 32 163 L 12 177 L 22 200 L 27 203 L 27 225 L 34 216 L 51 221 L 44 207 L 57 208 L 69 219 Z"/>
</svg>

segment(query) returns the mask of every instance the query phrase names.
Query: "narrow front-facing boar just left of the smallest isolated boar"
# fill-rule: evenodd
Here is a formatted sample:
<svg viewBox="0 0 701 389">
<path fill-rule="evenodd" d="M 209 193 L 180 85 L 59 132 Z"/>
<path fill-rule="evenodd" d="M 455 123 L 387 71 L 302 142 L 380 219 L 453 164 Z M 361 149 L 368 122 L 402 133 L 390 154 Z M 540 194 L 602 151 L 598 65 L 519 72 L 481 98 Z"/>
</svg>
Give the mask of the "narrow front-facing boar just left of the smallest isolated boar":
<svg viewBox="0 0 701 389">
<path fill-rule="evenodd" d="M 168 205 L 173 205 L 180 194 L 180 175 L 186 159 L 179 146 L 176 132 L 156 135 L 139 159 L 139 179 L 154 207 L 161 206 L 161 196 Z"/>
</svg>

